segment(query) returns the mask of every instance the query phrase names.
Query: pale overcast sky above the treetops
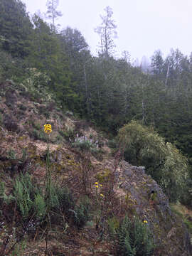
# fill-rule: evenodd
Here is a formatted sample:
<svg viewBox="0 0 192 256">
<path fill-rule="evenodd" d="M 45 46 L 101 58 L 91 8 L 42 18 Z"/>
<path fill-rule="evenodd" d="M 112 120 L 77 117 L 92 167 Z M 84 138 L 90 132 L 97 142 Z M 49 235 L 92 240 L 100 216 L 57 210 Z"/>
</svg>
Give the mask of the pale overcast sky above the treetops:
<svg viewBox="0 0 192 256">
<path fill-rule="evenodd" d="M 46 12 L 47 0 L 22 0 L 27 11 Z M 129 51 L 132 58 L 148 58 L 160 49 L 164 57 L 171 48 L 185 55 L 192 52 L 191 0 L 60 0 L 58 19 L 62 28 L 77 28 L 85 37 L 92 54 L 97 53 L 99 37 L 94 28 L 100 25 L 100 14 L 106 6 L 113 11 L 117 24 L 117 55 Z"/>
</svg>

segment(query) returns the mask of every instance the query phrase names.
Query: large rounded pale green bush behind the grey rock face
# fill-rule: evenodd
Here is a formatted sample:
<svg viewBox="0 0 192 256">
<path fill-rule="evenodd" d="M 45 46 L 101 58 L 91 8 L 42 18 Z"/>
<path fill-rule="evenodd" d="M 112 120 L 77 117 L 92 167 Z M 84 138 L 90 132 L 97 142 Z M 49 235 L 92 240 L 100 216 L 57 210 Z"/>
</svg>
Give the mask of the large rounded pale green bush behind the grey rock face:
<svg viewBox="0 0 192 256">
<path fill-rule="evenodd" d="M 176 147 L 153 130 L 132 121 L 119 129 L 119 144 L 131 164 L 145 166 L 146 173 L 164 189 L 171 201 L 183 194 L 188 178 L 187 160 Z"/>
</svg>

